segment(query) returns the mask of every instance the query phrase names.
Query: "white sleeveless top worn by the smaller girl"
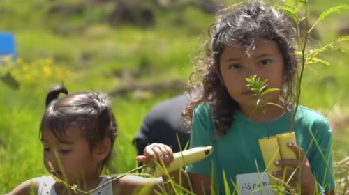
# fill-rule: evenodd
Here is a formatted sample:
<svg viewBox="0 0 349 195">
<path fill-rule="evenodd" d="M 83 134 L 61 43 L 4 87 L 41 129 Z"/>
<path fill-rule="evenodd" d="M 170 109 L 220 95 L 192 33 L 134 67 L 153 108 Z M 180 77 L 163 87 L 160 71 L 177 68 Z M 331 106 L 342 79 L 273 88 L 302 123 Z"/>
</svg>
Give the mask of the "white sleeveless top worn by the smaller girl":
<svg viewBox="0 0 349 195">
<path fill-rule="evenodd" d="M 41 176 L 38 180 L 40 182 L 38 195 L 57 195 L 56 190 L 54 189 L 54 183 L 56 181 L 52 176 Z M 110 177 L 104 176 L 99 185 L 103 185 L 103 183 L 108 180 L 110 180 Z M 112 182 L 97 189 L 91 195 L 112 195 Z"/>
</svg>

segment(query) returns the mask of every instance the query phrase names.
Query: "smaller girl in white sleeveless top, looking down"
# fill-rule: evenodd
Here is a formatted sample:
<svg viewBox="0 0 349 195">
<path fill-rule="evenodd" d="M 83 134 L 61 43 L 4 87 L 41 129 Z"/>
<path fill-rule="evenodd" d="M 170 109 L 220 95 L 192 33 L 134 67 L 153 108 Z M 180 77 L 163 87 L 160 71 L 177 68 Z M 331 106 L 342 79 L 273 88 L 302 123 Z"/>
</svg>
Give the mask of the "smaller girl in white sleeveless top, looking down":
<svg viewBox="0 0 349 195">
<path fill-rule="evenodd" d="M 60 93 L 66 95 L 59 98 Z M 45 168 L 51 176 L 27 180 L 9 194 L 75 194 L 71 187 L 89 192 L 101 185 L 91 194 L 132 194 L 137 187 L 161 182 L 135 176 L 108 182 L 112 177 L 101 177 L 116 137 L 117 122 L 107 95 L 68 95 L 64 87 L 50 91 L 40 139 Z"/>
</svg>

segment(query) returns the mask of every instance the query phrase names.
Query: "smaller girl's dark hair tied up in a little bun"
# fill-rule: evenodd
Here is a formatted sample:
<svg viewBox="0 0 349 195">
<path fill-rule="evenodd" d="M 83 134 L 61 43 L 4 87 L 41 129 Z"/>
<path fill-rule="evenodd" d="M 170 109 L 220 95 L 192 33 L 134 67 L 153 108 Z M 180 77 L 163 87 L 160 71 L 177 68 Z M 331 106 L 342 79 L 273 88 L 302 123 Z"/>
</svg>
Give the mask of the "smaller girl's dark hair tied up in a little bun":
<svg viewBox="0 0 349 195">
<path fill-rule="evenodd" d="M 66 94 L 59 98 L 59 94 Z M 64 86 L 58 86 L 47 93 L 46 109 L 40 124 L 43 130 L 50 130 L 57 139 L 66 141 L 69 127 L 83 130 L 92 150 L 103 139 L 110 139 L 111 148 L 117 137 L 117 121 L 110 107 L 110 100 L 103 93 L 80 92 L 68 94 Z M 112 150 L 101 162 L 100 172 L 110 162 Z"/>
</svg>

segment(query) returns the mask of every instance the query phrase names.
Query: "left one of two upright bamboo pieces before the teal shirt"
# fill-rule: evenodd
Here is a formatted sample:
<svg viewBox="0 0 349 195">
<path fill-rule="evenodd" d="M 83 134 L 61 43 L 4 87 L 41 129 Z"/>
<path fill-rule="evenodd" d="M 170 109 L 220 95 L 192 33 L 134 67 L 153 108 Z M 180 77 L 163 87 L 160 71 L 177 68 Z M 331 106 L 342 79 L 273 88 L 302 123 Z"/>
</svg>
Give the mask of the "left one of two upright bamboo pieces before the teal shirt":
<svg viewBox="0 0 349 195">
<path fill-rule="evenodd" d="M 274 171 L 281 170 L 281 167 L 275 165 L 275 161 L 281 159 L 277 137 L 262 138 L 258 140 L 258 143 L 267 172 L 272 174 Z M 278 180 L 269 175 L 269 182 L 271 185 L 277 185 Z"/>
</svg>

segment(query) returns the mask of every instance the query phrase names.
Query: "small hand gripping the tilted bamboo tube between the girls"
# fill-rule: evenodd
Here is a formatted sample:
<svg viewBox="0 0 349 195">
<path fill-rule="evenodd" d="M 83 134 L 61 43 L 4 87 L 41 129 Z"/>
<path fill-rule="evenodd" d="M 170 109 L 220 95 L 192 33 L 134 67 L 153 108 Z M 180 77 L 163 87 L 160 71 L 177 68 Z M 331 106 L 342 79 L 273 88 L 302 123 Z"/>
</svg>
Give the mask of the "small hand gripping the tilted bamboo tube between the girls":
<svg viewBox="0 0 349 195">
<path fill-rule="evenodd" d="M 160 162 L 161 161 L 168 166 L 173 162 L 173 152 L 172 149 L 162 143 L 151 143 L 143 150 L 143 155 L 136 157 L 138 162 L 148 163 L 148 162 Z"/>
</svg>

